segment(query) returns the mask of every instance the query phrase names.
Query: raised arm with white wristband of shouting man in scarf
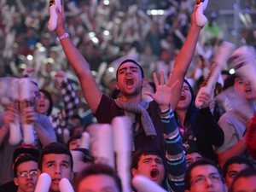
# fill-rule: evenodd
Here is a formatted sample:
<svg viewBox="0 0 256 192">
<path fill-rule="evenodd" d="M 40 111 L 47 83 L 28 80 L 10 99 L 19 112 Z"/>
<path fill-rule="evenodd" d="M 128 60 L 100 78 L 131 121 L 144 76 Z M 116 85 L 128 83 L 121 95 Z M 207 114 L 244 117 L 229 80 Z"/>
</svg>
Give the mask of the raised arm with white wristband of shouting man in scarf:
<svg viewBox="0 0 256 192">
<path fill-rule="evenodd" d="M 67 30 L 64 26 L 65 14 L 63 3 L 61 13 L 58 9 L 56 9 L 56 12 L 58 15 L 58 24 L 55 32 L 57 33 L 57 36 L 60 38 L 65 33 L 67 33 Z M 102 91 L 98 88 L 96 80 L 90 72 L 89 63 L 84 59 L 84 56 L 81 55 L 79 50 L 74 46 L 73 42 L 71 41 L 71 38 L 62 38 L 60 42 L 65 52 L 65 55 L 67 56 L 67 60 L 73 67 L 75 73 L 78 75 L 85 101 L 88 103 L 88 106 L 90 107 L 92 112 L 95 113 L 96 108 L 98 107 L 98 104 L 102 98 Z"/>
</svg>

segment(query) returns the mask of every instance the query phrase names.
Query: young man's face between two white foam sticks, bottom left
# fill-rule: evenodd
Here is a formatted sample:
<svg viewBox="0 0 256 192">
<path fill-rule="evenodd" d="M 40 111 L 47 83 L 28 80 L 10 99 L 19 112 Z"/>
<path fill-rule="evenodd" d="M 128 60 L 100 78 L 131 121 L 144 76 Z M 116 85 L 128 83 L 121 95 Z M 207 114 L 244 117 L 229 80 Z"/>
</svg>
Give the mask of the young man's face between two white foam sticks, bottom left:
<svg viewBox="0 0 256 192">
<path fill-rule="evenodd" d="M 51 177 L 49 191 L 60 191 L 59 183 L 61 178 L 72 179 L 71 159 L 67 154 L 44 154 L 42 172 L 46 172 Z"/>
</svg>

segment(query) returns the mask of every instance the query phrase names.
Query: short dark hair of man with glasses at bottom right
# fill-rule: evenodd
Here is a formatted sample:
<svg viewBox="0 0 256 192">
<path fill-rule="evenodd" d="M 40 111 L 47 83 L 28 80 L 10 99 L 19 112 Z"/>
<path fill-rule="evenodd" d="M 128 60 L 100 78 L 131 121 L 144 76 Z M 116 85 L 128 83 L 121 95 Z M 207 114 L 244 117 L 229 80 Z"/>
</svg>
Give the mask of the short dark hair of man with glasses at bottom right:
<svg viewBox="0 0 256 192">
<path fill-rule="evenodd" d="M 185 183 L 185 189 L 189 190 L 191 187 L 190 180 L 191 180 L 191 172 L 195 169 L 197 166 L 214 166 L 218 170 L 218 174 L 220 175 L 222 182 L 224 183 L 222 172 L 220 168 L 212 161 L 208 160 L 206 158 L 202 158 L 200 160 L 196 160 L 191 165 L 189 165 L 187 172 L 185 173 L 184 177 L 184 183 Z"/>
</svg>

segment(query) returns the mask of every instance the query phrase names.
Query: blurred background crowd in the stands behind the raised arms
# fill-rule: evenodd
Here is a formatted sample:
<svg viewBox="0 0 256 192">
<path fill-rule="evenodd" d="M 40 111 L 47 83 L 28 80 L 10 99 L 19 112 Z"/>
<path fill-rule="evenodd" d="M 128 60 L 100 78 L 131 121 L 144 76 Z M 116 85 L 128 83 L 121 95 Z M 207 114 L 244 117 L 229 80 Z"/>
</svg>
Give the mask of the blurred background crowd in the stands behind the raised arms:
<svg viewBox="0 0 256 192">
<path fill-rule="evenodd" d="M 74 44 L 90 63 L 96 82 L 111 96 L 120 58 L 139 61 L 148 82 L 152 82 L 152 72 L 164 70 L 167 75 L 172 70 L 187 35 L 195 1 L 64 0 L 64 3 L 67 29 Z M 39 88 L 49 90 L 58 110 L 63 104 L 53 77 L 63 70 L 79 97 L 77 113 L 82 117 L 90 113 L 55 32 L 47 29 L 49 2 L 1 0 L 0 9 L 0 76 L 20 77 L 27 67 L 34 68 Z M 256 45 L 255 9 L 253 0 L 209 2 L 208 23 L 201 32 L 195 59 L 187 73 L 195 93 L 197 82 L 209 71 L 207 61 L 219 41 Z"/>
</svg>

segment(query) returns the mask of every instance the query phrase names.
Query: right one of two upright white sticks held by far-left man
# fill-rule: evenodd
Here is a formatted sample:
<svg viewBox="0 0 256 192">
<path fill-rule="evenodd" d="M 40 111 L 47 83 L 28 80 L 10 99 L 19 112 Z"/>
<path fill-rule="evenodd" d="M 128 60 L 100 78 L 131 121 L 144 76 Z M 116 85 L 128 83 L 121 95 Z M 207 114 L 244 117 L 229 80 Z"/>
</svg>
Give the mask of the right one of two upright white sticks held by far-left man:
<svg viewBox="0 0 256 192">
<path fill-rule="evenodd" d="M 31 79 L 20 79 L 20 112 L 25 113 L 22 117 L 23 140 L 25 144 L 32 144 L 35 141 L 32 122 L 26 119 L 26 109 L 35 108 Z"/>
</svg>

